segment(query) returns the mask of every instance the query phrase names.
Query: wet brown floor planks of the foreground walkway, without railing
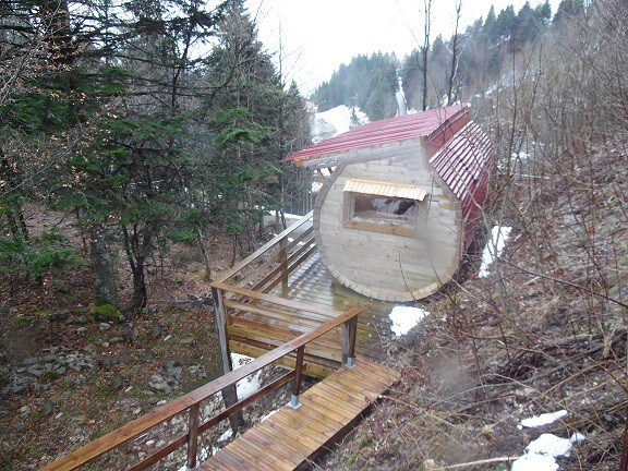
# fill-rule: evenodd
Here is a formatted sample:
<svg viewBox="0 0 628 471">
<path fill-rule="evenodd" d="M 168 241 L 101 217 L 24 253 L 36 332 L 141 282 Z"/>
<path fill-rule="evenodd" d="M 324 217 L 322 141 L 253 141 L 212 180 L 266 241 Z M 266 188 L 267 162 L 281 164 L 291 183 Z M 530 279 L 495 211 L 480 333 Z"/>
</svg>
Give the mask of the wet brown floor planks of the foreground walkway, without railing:
<svg viewBox="0 0 628 471">
<path fill-rule="evenodd" d="M 353 370 L 341 367 L 303 392 L 299 409 L 282 407 L 198 470 L 290 471 L 307 467 L 399 378 L 399 372 L 359 355 Z"/>
</svg>

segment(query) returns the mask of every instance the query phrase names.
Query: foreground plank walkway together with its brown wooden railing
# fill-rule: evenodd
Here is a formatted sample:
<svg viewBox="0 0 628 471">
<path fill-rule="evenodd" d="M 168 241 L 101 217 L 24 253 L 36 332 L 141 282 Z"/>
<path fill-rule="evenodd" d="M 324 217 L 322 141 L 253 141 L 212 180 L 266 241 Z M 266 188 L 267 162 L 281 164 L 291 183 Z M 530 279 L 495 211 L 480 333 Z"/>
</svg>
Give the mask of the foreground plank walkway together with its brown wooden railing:
<svg viewBox="0 0 628 471">
<path fill-rule="evenodd" d="M 43 470 L 75 470 L 110 451 L 124 452 L 126 443 L 144 437 L 152 428 L 167 424 L 181 413 L 189 415 L 188 433 L 174 437 L 170 443 L 126 469 L 132 471 L 148 469 L 184 446 L 188 449 L 186 467 L 196 468 L 198 437 L 203 433 L 234 416 L 257 398 L 288 383 L 291 383 L 292 392 L 289 406 L 281 408 L 268 420 L 254 426 L 224 450 L 201 463 L 200 469 L 282 470 L 306 467 L 310 460 L 350 430 L 363 411 L 399 379 L 399 373 L 365 358 L 355 357 L 357 316 L 360 312 L 360 309 L 349 310 L 251 363 L 51 462 Z M 340 326 L 343 331 L 342 366 L 301 395 L 301 377 L 309 367 L 305 362 L 306 347 Z M 285 361 L 289 355 L 294 355 L 293 370 L 237 402 L 230 402 L 224 396 L 226 408 L 205 422 L 201 421 L 201 404 L 204 401 L 216 394 L 229 391 L 238 382 L 270 364 Z M 120 469 L 120 467 L 108 462 L 99 463 L 97 469 Z"/>
</svg>

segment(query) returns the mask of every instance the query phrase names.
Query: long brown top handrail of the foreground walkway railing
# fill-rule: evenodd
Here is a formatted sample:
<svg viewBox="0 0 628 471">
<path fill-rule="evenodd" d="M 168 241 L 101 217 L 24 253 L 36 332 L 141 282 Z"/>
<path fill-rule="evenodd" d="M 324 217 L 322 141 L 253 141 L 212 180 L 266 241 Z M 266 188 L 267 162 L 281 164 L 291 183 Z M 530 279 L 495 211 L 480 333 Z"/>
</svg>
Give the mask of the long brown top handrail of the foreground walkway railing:
<svg viewBox="0 0 628 471">
<path fill-rule="evenodd" d="M 232 290 L 233 287 L 225 286 L 225 289 Z M 250 291 L 244 289 L 242 290 Z M 268 297 L 265 294 L 259 295 Z M 263 367 L 269 365 L 270 363 L 280 360 L 282 357 L 286 357 L 287 354 L 293 352 L 294 350 L 304 347 L 312 340 L 317 339 L 318 337 L 327 334 L 334 328 L 352 319 L 361 312 L 362 310 L 359 307 L 350 309 L 349 311 L 346 311 L 339 316 L 329 319 L 325 324 L 322 324 L 321 326 L 312 329 L 311 331 L 303 334 L 287 343 L 283 343 L 281 347 L 278 347 L 275 350 L 271 350 L 262 357 L 258 357 L 257 359 L 239 367 L 238 370 L 231 371 L 226 375 L 210 383 L 207 383 L 206 385 L 201 386 L 200 388 L 194 389 L 191 392 L 188 392 L 186 395 L 173 400 L 172 402 L 167 403 L 166 406 L 157 409 L 156 411 L 143 415 L 138 419 L 135 419 L 134 421 L 128 423 L 126 425 L 123 425 L 120 428 L 101 436 L 100 438 L 85 445 L 84 447 L 71 452 L 70 455 L 67 455 L 65 457 L 44 467 L 41 471 L 60 471 L 60 470 L 68 471 L 68 470 L 74 470 L 83 464 L 86 464 L 96 459 L 97 457 L 104 455 L 105 452 L 110 451 L 111 449 L 119 447 L 120 445 L 126 443 L 128 440 L 137 437 L 138 435 L 143 434 L 144 432 L 148 431 L 155 425 L 158 425 L 173 418 L 174 415 L 190 409 L 191 407 L 197 404 L 198 402 L 221 391 L 222 389 L 234 385 L 235 383 L 249 376 L 250 374 L 253 374 L 262 370 Z M 181 438 L 179 440 L 181 440 Z"/>
</svg>

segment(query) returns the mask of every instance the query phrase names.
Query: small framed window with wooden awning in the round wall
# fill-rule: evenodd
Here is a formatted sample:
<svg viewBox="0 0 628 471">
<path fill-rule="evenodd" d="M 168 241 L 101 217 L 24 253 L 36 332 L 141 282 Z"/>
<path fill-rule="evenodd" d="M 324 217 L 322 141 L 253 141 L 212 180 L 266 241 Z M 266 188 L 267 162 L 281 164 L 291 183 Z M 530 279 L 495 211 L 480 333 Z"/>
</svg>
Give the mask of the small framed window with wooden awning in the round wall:
<svg viewBox="0 0 628 471">
<path fill-rule="evenodd" d="M 345 184 L 345 227 L 413 237 L 421 202 L 427 194 L 418 186 L 366 180 Z"/>
</svg>

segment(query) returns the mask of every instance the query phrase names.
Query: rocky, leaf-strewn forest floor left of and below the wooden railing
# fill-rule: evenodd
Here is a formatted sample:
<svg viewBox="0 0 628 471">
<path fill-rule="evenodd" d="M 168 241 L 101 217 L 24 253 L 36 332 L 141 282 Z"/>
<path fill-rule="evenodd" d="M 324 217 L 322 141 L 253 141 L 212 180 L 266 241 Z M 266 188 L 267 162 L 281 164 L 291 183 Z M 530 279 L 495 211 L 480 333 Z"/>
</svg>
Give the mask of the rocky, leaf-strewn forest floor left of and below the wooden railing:
<svg viewBox="0 0 628 471">
<path fill-rule="evenodd" d="M 35 230 L 65 220 L 63 215 L 31 210 Z M 74 230 L 70 222 L 63 225 L 67 237 L 76 241 Z M 210 241 L 209 250 L 215 273 L 229 266 L 232 247 L 227 238 Z M 150 302 L 141 313 L 114 310 L 102 315 L 94 305 L 92 275 L 84 265 L 51 274 L 43 286 L 23 282 L 0 300 L 0 470 L 38 469 L 220 376 L 201 261 L 196 247 L 174 247 L 164 266 L 152 271 Z M 124 302 L 131 297 L 130 280 L 119 281 Z M 234 364 L 242 361 L 235 359 Z M 254 381 L 264 385 L 281 373 L 265 369 Z M 239 391 L 240 386 L 246 389 L 244 383 Z M 310 384 L 306 381 L 304 387 Z M 257 422 L 288 401 L 289 391 L 282 388 L 246 407 L 244 419 Z M 202 420 L 220 408 L 219 397 L 203 402 Z M 177 415 L 125 445 L 123 452 L 86 469 L 123 469 L 186 433 L 188 421 Z M 202 436 L 201 455 L 232 438 L 228 422 L 221 423 Z M 171 455 L 159 469 L 181 468 L 184 452 L 182 448 Z"/>
</svg>

